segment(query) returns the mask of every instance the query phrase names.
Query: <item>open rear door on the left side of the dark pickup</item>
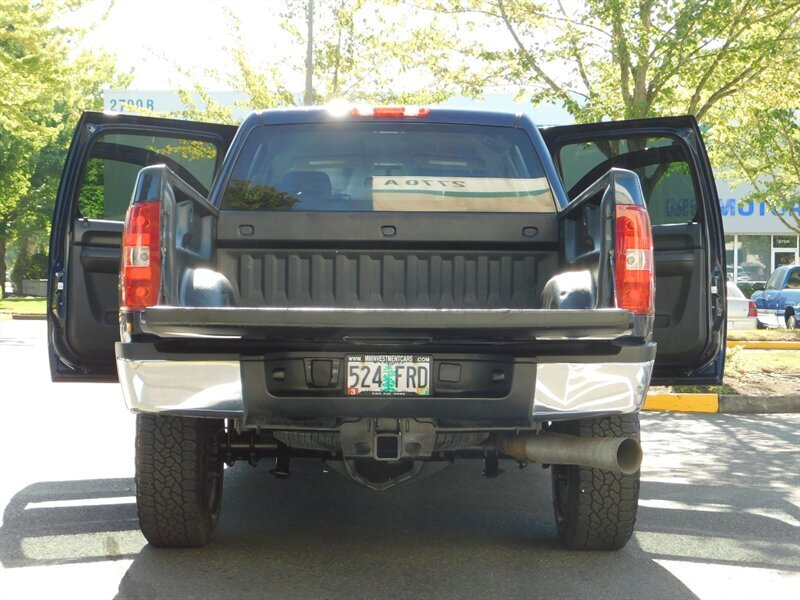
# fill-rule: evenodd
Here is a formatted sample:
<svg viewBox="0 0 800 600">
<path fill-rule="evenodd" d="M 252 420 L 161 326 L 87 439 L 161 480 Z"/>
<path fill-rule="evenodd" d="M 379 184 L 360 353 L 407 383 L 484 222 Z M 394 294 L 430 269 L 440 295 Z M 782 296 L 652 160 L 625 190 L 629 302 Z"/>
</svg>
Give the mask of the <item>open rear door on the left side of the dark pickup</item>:
<svg viewBox="0 0 800 600">
<path fill-rule="evenodd" d="M 72 138 L 50 234 L 53 381 L 113 381 L 120 246 L 142 167 L 166 164 L 208 195 L 237 127 L 87 112 Z"/>
</svg>

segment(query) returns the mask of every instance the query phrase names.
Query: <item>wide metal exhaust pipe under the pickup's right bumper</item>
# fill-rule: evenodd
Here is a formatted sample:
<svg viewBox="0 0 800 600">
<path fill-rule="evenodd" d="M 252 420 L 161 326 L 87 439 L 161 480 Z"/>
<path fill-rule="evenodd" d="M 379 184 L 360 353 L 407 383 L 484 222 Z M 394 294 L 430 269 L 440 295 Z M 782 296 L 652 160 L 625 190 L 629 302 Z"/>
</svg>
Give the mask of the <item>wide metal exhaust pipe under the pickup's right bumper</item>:
<svg viewBox="0 0 800 600">
<path fill-rule="evenodd" d="M 519 460 L 580 465 L 632 475 L 642 464 L 642 447 L 632 438 L 590 438 L 561 433 L 499 435 L 497 449 Z"/>
</svg>

